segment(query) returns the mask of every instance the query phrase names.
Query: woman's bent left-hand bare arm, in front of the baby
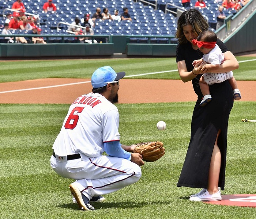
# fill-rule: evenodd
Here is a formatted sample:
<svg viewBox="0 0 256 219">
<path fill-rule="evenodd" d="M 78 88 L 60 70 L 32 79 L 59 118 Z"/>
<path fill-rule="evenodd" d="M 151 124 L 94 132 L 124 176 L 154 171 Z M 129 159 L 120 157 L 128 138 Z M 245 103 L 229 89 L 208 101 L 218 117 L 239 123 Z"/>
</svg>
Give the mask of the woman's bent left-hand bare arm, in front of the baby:
<svg viewBox="0 0 256 219">
<path fill-rule="evenodd" d="M 206 72 L 205 66 L 200 65 L 200 62 L 194 66 L 194 69 L 191 72 L 188 72 L 187 66 L 184 60 L 177 62 L 177 68 L 180 75 L 180 78 L 183 82 L 191 81 L 197 76 L 197 74 L 203 74 Z"/>
</svg>

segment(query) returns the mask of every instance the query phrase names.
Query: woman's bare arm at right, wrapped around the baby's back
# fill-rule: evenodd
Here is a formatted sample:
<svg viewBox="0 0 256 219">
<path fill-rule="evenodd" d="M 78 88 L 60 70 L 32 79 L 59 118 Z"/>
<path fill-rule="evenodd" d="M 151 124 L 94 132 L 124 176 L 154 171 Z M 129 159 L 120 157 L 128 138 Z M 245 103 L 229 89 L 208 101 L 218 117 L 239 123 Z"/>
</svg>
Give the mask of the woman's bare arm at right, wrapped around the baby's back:
<svg viewBox="0 0 256 219">
<path fill-rule="evenodd" d="M 239 64 L 236 57 L 230 51 L 226 51 L 223 53 L 225 57 L 225 61 L 219 66 L 217 70 L 211 70 L 206 72 L 212 73 L 222 73 L 222 72 L 230 72 L 232 70 L 238 69 Z"/>
</svg>

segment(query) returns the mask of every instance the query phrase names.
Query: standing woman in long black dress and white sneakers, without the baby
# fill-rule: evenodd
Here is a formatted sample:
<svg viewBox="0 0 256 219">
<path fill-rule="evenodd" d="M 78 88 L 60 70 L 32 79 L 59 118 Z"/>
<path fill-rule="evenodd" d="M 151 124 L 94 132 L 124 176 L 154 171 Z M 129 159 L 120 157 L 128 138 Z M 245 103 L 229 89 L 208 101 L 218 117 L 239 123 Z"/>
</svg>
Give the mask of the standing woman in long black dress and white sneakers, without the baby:
<svg viewBox="0 0 256 219">
<path fill-rule="evenodd" d="M 179 44 L 176 49 L 178 72 L 183 82 L 192 81 L 197 102 L 191 121 L 191 139 L 187 155 L 181 170 L 177 187 L 203 188 L 199 193 L 192 195 L 191 201 L 221 200 L 219 187 L 224 190 L 227 124 L 233 107 L 233 91 L 228 81 L 210 86 L 212 101 L 205 107 L 199 103 L 203 98 L 199 87 L 199 79 L 205 66 L 192 65 L 196 59 L 203 57 L 199 48 L 193 45 L 192 40 L 203 31 L 208 30 L 204 17 L 196 9 L 189 9 L 178 19 L 176 38 Z M 234 55 L 223 42 L 217 40 L 225 56 L 225 61 L 214 73 L 229 72 L 238 68 Z"/>
</svg>

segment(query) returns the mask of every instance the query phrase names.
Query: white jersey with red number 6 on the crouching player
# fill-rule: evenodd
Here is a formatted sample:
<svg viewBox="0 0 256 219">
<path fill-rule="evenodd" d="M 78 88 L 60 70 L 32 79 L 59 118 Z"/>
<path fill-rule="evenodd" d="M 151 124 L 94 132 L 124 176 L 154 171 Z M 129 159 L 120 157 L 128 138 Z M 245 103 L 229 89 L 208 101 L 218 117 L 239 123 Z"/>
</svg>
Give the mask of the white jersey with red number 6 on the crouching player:
<svg viewBox="0 0 256 219">
<path fill-rule="evenodd" d="M 53 150 L 61 156 L 83 153 L 97 157 L 104 152 L 104 142 L 120 140 L 118 126 L 114 104 L 99 93 L 82 95 L 69 107 Z"/>
</svg>

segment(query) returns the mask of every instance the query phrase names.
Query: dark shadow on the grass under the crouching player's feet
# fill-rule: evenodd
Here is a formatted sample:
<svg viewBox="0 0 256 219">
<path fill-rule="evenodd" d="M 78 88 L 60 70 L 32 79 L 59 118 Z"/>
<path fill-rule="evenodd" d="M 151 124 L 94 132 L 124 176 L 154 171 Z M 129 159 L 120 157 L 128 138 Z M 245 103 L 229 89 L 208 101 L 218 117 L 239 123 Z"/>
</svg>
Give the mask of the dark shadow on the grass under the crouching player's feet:
<svg viewBox="0 0 256 219">
<path fill-rule="evenodd" d="M 144 205 L 163 205 L 163 204 L 170 204 L 170 201 L 142 201 L 142 202 L 135 202 L 135 201 L 121 201 L 121 202 L 93 202 L 91 203 L 93 207 L 97 210 L 99 208 L 141 208 Z M 77 204 L 61 204 L 57 205 L 60 208 L 70 208 L 74 210 L 79 210 Z"/>
</svg>

